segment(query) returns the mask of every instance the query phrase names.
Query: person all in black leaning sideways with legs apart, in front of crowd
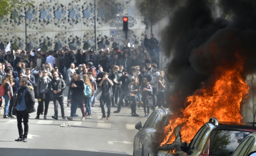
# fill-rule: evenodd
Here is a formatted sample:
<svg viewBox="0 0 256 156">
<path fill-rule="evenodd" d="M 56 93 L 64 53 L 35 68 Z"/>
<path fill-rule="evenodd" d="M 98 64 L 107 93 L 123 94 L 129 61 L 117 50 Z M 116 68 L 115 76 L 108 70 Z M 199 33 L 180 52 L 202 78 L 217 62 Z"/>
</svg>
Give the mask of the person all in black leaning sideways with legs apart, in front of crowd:
<svg viewBox="0 0 256 156">
<path fill-rule="evenodd" d="M 121 94 L 118 101 L 117 110 L 114 113 L 119 113 L 121 110 L 121 105 L 123 103 L 123 99 L 126 95 L 129 95 L 129 84 L 131 82 L 131 77 L 127 74 L 126 70 L 122 71 L 122 76 L 118 79 L 119 82 L 122 82 L 121 85 Z"/>
</svg>

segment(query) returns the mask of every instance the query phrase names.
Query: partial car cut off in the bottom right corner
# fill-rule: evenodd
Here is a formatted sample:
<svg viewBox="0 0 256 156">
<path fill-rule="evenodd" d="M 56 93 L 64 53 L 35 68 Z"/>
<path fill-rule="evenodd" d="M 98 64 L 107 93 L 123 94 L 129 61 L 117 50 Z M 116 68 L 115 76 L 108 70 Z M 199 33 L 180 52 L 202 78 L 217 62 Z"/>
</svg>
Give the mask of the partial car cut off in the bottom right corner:
<svg viewBox="0 0 256 156">
<path fill-rule="evenodd" d="M 248 135 L 236 148 L 232 156 L 256 156 L 256 132 Z"/>
</svg>

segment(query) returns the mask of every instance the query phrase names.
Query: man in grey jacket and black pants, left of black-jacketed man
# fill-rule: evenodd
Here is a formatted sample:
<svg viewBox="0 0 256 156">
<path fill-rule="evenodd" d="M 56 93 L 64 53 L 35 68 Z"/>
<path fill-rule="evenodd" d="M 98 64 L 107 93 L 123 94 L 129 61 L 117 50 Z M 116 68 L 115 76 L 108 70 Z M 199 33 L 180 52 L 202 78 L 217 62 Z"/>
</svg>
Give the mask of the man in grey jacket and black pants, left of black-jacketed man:
<svg viewBox="0 0 256 156">
<path fill-rule="evenodd" d="M 38 95 L 38 107 L 37 107 L 37 116 L 36 119 L 39 119 L 39 115 L 43 110 L 44 104 L 45 104 L 45 110 L 44 110 L 44 119 L 46 119 L 46 115 L 48 112 L 48 106 L 50 102 L 50 92 L 49 92 L 49 84 L 51 83 L 51 79 L 47 76 L 48 71 L 43 70 L 43 75 L 41 78 L 37 81 L 37 95 Z M 45 103 L 43 103 L 45 102 Z"/>
</svg>

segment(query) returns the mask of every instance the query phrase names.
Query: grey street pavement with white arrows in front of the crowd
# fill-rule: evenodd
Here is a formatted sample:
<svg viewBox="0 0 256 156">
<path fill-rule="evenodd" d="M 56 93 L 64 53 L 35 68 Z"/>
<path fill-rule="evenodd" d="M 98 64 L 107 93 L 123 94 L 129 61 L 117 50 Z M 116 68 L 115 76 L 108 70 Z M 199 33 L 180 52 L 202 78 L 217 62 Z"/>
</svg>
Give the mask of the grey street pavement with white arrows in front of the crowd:
<svg viewBox="0 0 256 156">
<path fill-rule="evenodd" d="M 64 92 L 64 95 L 66 94 L 67 89 Z M 68 117 L 70 107 L 67 107 L 66 101 L 65 96 L 65 116 Z M 54 105 L 51 101 L 46 120 L 43 119 L 43 115 L 40 115 L 40 119 L 35 119 L 36 112 L 31 114 L 26 143 L 14 141 L 19 137 L 17 120 L 4 119 L 2 111 L 0 115 L 0 155 L 132 155 L 133 139 L 138 132 L 134 126 L 139 121 L 143 125 L 147 119 L 144 117 L 143 108 L 137 108 L 139 117 L 132 117 L 130 108 L 122 107 L 120 113 L 113 113 L 117 108 L 111 107 L 110 120 L 101 120 L 99 102 L 96 101 L 95 104 L 96 107 L 92 107 L 91 119 L 81 121 L 82 113 L 78 108 L 79 117 L 75 117 L 74 121 L 69 121 L 61 117 L 58 120 L 51 117 L 54 115 Z M 4 106 L 4 101 L 2 106 Z M 36 99 L 36 109 L 37 106 Z M 105 111 L 107 112 L 106 107 Z M 61 116 L 60 107 L 58 114 Z M 69 122 L 71 127 L 60 127 L 66 122 Z"/>
</svg>

